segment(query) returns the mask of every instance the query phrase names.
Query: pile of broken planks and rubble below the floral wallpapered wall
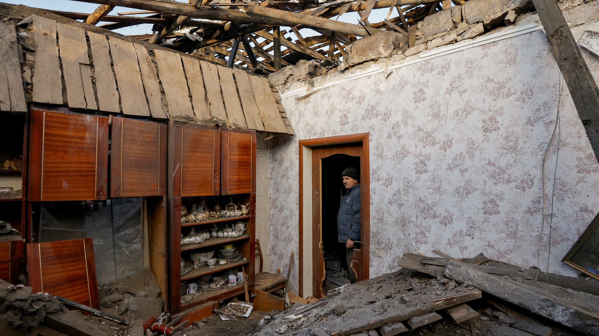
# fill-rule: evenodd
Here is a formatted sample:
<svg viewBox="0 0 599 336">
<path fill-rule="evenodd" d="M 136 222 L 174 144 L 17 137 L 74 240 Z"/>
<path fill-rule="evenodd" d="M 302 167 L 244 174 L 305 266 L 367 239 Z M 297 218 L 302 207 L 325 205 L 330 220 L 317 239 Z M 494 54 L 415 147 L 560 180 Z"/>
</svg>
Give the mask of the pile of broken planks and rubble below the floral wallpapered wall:
<svg viewBox="0 0 599 336">
<path fill-rule="evenodd" d="M 599 335 L 595 295 L 541 283 L 531 270 L 489 261 L 482 254 L 462 261 L 444 256 L 406 253 L 398 262 L 401 270 L 341 286 L 316 303 L 297 303 L 262 319 L 262 328 L 252 335 L 391 336 L 422 326 L 428 335 L 447 323 L 471 335 L 547 336 L 552 330 L 555 335 Z M 572 281 L 575 286 L 577 280 Z M 430 335 L 454 335 L 449 329 Z"/>
</svg>

